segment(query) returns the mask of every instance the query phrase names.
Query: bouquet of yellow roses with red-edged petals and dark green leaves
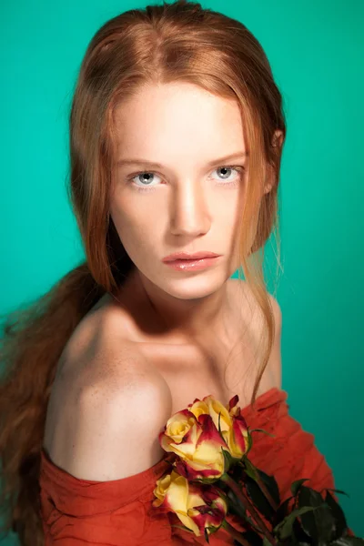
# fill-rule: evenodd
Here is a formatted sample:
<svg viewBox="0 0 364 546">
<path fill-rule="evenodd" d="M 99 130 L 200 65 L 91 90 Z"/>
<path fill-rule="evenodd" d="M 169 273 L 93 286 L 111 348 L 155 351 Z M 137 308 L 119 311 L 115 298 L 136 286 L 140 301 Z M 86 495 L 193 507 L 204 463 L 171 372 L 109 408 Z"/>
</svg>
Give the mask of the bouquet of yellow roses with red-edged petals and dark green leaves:
<svg viewBox="0 0 364 546">
<path fill-rule="evenodd" d="M 303 485 L 308 479 L 296 480 L 292 496 L 280 501 L 275 478 L 248 459 L 255 430 L 241 414 L 238 395 L 227 407 L 207 396 L 178 411 L 159 434 L 170 465 L 157 480 L 153 506 L 173 512 L 183 524 L 177 527 L 207 542 L 222 527 L 234 544 L 246 546 L 364 545 L 329 489 L 324 499 Z"/>
</svg>

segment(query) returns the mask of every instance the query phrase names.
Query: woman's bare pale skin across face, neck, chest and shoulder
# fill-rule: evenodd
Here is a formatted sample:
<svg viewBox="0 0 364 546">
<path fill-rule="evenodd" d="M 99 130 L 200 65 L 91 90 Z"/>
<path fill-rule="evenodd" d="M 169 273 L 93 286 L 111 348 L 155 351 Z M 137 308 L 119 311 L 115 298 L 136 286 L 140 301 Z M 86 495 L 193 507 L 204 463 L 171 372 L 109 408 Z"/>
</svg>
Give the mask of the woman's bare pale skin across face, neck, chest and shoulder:
<svg viewBox="0 0 364 546">
<path fill-rule="evenodd" d="M 256 379 L 255 369 L 244 375 L 258 349 L 252 298 L 230 278 L 248 157 L 217 163 L 247 152 L 238 104 L 186 83 L 147 86 L 119 106 L 116 126 L 116 161 L 163 167 L 115 167 L 110 214 L 136 268 L 118 303 L 106 295 L 81 320 L 57 366 L 45 449 L 89 480 L 147 469 L 162 456 L 158 433 L 171 414 L 208 394 L 227 402 L 238 393 L 244 407 Z M 201 250 L 221 257 L 188 272 L 162 262 Z M 272 384 L 267 372 L 260 390 Z"/>
</svg>

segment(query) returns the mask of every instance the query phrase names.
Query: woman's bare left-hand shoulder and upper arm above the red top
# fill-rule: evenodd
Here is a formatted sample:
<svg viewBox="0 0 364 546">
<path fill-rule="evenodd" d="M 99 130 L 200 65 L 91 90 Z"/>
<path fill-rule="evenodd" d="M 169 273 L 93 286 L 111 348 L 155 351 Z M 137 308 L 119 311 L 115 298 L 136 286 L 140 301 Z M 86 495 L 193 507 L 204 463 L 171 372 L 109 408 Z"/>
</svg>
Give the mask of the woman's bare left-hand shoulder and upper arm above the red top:
<svg viewBox="0 0 364 546">
<path fill-rule="evenodd" d="M 157 438 L 170 417 L 171 393 L 137 345 L 120 335 L 115 316 L 100 314 L 83 328 L 55 381 L 45 450 L 76 478 L 125 478 L 162 458 Z"/>
</svg>

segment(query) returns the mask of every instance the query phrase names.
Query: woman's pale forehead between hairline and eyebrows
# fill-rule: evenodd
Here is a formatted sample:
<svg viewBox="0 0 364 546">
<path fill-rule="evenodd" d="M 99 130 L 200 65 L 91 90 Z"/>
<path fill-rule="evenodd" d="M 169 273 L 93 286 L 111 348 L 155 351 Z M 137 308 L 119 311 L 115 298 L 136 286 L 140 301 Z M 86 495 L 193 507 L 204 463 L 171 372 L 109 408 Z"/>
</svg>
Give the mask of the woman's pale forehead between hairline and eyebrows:
<svg viewBox="0 0 364 546">
<path fill-rule="evenodd" d="M 143 86 L 116 108 L 119 153 L 224 155 L 245 149 L 238 102 L 188 83 Z"/>
</svg>

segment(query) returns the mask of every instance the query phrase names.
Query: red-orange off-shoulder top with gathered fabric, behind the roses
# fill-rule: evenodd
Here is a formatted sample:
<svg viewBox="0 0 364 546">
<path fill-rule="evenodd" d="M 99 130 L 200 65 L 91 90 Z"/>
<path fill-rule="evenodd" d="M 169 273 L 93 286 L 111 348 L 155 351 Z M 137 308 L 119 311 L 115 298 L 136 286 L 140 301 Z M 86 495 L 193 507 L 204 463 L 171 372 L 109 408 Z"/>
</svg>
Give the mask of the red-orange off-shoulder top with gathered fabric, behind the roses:
<svg viewBox="0 0 364 546">
<path fill-rule="evenodd" d="M 335 487 L 332 471 L 314 444 L 314 435 L 302 430 L 298 421 L 288 415 L 287 398 L 285 390 L 274 387 L 257 398 L 255 410 L 250 405 L 242 410 L 250 429 L 264 429 L 275 435 L 271 438 L 253 432 L 249 459 L 260 470 L 274 475 L 281 501 L 291 496 L 290 484 L 300 478 L 309 478 L 306 485 L 315 490 Z M 170 518 L 175 515 L 152 508 L 156 481 L 167 467 L 162 459 L 120 480 L 80 480 L 57 467 L 42 450 L 40 490 L 45 546 L 206 544 L 204 537 L 172 527 Z M 210 535 L 209 544 L 226 546 L 233 540 L 220 528 Z"/>
</svg>

